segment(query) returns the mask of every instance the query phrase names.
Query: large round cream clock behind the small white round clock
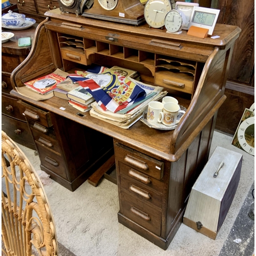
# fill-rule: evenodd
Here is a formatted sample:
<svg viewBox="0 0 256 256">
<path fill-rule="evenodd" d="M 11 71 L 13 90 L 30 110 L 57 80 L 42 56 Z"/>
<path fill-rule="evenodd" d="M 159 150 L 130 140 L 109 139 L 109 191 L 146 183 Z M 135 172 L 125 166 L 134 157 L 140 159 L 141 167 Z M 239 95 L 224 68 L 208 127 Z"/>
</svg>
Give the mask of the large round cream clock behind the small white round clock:
<svg viewBox="0 0 256 256">
<path fill-rule="evenodd" d="M 148 0 L 144 7 L 144 18 L 152 28 L 164 26 L 164 18 L 172 9 L 169 0 Z"/>
</svg>

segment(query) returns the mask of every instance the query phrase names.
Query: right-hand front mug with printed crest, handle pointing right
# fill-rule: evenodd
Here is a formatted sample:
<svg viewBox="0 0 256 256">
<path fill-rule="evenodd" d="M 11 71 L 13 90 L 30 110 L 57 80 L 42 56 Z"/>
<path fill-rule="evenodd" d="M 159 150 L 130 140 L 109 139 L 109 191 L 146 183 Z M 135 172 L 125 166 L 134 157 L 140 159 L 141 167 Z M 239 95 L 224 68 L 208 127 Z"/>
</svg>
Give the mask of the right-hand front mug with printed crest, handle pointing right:
<svg viewBox="0 0 256 256">
<path fill-rule="evenodd" d="M 180 106 L 173 102 L 167 102 L 163 105 L 163 111 L 159 112 L 158 122 L 164 125 L 172 126 L 177 123 L 177 116 L 185 111 L 180 110 Z"/>
</svg>

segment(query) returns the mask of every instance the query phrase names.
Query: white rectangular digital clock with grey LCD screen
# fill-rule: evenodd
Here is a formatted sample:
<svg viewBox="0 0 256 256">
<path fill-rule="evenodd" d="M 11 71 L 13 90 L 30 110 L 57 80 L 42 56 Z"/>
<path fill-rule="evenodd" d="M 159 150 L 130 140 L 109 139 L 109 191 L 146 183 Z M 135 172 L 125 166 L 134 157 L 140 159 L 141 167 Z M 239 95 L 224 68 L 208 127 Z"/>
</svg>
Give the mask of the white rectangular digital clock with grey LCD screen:
<svg viewBox="0 0 256 256">
<path fill-rule="evenodd" d="M 188 29 L 191 26 L 200 27 L 208 29 L 208 35 L 212 35 L 219 13 L 220 10 L 217 9 L 194 6 Z"/>
</svg>

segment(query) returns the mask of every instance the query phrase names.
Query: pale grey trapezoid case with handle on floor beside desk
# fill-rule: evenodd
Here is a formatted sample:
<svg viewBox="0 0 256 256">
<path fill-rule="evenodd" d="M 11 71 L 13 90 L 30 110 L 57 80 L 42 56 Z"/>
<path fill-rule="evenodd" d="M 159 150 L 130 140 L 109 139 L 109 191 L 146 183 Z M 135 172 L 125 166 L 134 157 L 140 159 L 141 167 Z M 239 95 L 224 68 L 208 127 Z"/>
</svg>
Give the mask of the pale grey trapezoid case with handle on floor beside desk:
<svg viewBox="0 0 256 256">
<path fill-rule="evenodd" d="M 236 194 L 242 158 L 242 154 L 216 147 L 191 189 L 183 218 L 185 225 L 216 239 Z"/>
</svg>

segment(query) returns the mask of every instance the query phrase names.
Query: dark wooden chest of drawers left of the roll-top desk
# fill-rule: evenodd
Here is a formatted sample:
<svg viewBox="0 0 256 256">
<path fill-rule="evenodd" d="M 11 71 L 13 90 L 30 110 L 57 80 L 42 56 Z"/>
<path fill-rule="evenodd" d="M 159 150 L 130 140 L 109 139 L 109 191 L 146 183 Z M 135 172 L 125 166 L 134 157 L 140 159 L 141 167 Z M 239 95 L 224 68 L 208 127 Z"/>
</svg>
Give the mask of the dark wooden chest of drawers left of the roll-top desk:
<svg viewBox="0 0 256 256">
<path fill-rule="evenodd" d="M 7 30 L 14 33 L 11 40 L 2 43 L 2 130 L 15 142 L 35 149 L 25 116 L 20 113 L 18 98 L 10 95 L 12 71 L 28 56 L 31 46 L 18 47 L 18 39 L 31 37 L 33 40 L 37 24 L 26 30 Z"/>
</svg>

